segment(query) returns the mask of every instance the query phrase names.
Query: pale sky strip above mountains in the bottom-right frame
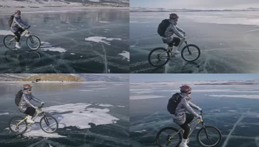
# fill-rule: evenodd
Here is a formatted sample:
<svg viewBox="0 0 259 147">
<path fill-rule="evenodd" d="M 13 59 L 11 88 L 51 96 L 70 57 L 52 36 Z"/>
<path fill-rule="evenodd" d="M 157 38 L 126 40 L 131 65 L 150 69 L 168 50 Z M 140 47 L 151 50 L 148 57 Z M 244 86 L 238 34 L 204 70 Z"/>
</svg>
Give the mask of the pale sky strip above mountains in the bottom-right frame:
<svg viewBox="0 0 259 147">
<path fill-rule="evenodd" d="M 130 82 L 151 82 L 151 81 L 199 81 L 199 80 L 255 80 L 259 79 L 256 73 L 238 73 L 238 74 L 130 74 Z"/>
</svg>

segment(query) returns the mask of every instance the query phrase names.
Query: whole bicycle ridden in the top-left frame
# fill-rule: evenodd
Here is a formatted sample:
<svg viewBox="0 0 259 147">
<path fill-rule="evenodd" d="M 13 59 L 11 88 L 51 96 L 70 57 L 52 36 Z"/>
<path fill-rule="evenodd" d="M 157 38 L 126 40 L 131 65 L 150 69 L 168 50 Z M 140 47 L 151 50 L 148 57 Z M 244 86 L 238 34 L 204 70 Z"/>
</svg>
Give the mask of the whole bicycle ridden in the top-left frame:
<svg viewBox="0 0 259 147">
<path fill-rule="evenodd" d="M 20 42 L 23 40 L 24 36 L 28 35 L 28 38 L 26 40 L 26 45 L 32 50 L 37 50 L 41 46 L 41 42 L 38 36 L 31 35 L 31 32 L 28 31 L 27 27 L 25 31 L 21 34 Z M 16 36 L 15 35 L 6 35 L 3 39 L 3 45 L 7 49 L 15 49 L 16 45 Z"/>
</svg>

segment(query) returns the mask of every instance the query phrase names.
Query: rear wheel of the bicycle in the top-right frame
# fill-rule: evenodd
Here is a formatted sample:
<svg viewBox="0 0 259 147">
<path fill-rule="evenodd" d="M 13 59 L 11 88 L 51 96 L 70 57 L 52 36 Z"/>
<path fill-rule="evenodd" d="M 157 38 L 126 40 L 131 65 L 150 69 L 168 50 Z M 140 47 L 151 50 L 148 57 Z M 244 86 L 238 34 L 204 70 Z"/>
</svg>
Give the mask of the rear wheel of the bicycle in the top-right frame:
<svg viewBox="0 0 259 147">
<path fill-rule="evenodd" d="M 153 49 L 148 56 L 149 63 L 154 67 L 164 66 L 169 61 L 170 54 L 164 48 Z"/>
</svg>

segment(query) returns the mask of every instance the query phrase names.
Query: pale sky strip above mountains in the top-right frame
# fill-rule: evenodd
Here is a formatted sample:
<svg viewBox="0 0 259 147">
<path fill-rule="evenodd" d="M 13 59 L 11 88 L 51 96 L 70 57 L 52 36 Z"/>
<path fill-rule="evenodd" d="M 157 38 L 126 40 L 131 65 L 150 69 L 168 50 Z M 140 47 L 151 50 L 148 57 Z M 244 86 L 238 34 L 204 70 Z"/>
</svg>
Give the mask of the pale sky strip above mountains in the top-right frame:
<svg viewBox="0 0 259 147">
<path fill-rule="evenodd" d="M 259 8 L 259 0 L 130 0 L 130 7 L 178 9 Z"/>
</svg>

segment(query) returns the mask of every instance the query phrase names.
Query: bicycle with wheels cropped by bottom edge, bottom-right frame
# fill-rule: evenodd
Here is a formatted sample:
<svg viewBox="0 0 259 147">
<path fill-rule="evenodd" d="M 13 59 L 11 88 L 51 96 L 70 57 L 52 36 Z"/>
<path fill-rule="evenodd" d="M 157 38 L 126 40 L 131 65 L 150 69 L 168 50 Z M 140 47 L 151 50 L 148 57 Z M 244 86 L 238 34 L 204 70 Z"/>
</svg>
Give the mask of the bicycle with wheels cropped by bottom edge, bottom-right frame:
<svg viewBox="0 0 259 147">
<path fill-rule="evenodd" d="M 222 138 L 221 132 L 215 126 L 205 125 L 203 121 L 204 113 L 201 112 L 202 119 L 196 119 L 189 123 L 190 133 L 188 137 L 191 135 L 193 130 L 199 123 L 202 123 L 203 127 L 198 131 L 197 140 L 202 147 L 215 147 L 217 146 Z M 156 135 L 156 144 L 158 147 L 179 147 L 181 143 L 181 134 L 183 133 L 183 129 L 176 129 L 174 127 L 165 127 L 158 131 Z M 188 139 L 189 142 L 189 139 Z"/>
</svg>

